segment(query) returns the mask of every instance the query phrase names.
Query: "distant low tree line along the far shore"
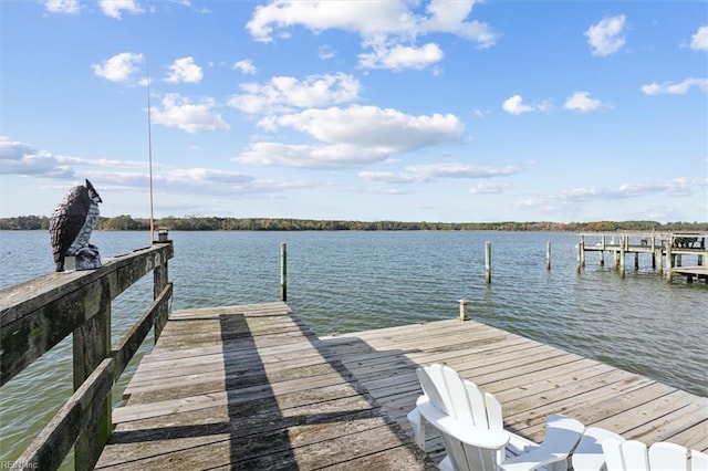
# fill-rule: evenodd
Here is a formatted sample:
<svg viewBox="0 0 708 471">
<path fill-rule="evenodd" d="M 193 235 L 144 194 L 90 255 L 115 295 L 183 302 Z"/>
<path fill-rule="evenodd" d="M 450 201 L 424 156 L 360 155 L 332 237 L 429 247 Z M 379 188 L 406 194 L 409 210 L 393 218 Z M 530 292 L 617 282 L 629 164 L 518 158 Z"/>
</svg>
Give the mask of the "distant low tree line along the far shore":
<svg viewBox="0 0 708 471">
<path fill-rule="evenodd" d="M 149 219 L 121 214 L 101 218 L 98 230 L 145 231 Z M 155 227 L 173 231 L 708 231 L 708 222 L 656 221 L 595 221 L 595 222 L 403 222 L 403 221 L 344 221 L 289 218 L 217 218 L 168 216 L 155 220 Z M 0 218 L 0 230 L 49 230 L 49 218 L 44 216 L 20 216 Z"/>
</svg>

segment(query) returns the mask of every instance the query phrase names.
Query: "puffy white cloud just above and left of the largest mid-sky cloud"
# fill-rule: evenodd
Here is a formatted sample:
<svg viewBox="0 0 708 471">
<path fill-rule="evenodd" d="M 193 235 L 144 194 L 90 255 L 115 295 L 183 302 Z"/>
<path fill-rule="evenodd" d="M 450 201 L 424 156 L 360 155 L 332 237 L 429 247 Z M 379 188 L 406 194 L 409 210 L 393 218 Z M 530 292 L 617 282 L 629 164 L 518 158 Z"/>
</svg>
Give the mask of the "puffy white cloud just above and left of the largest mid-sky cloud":
<svg viewBox="0 0 708 471">
<path fill-rule="evenodd" d="M 343 73 L 311 75 L 304 81 L 275 76 L 263 85 L 241 85 L 246 93 L 232 96 L 228 104 L 249 114 L 291 111 L 352 102 L 358 97 L 361 87 L 354 76 Z"/>
</svg>

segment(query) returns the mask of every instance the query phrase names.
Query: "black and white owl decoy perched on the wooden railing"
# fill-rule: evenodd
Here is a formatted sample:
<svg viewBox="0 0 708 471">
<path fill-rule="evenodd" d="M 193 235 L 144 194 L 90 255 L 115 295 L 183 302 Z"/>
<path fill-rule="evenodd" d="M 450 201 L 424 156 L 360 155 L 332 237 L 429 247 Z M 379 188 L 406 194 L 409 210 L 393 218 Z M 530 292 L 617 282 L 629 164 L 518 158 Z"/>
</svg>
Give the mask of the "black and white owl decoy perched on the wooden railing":
<svg viewBox="0 0 708 471">
<path fill-rule="evenodd" d="M 76 270 L 101 266 L 98 248 L 88 243 L 98 223 L 98 203 L 103 202 L 96 189 L 86 179 L 85 186 L 74 187 L 56 207 L 49 220 L 49 232 L 56 271 L 64 271 L 64 259 L 76 258 Z"/>
</svg>

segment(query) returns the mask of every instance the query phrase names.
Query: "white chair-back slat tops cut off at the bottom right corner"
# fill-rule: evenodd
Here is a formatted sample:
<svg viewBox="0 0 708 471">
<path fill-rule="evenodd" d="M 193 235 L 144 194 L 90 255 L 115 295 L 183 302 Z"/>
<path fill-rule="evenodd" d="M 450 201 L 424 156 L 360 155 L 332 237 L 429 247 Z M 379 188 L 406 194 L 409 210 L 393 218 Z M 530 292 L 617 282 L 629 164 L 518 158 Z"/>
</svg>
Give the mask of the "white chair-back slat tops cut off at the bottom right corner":
<svg viewBox="0 0 708 471">
<path fill-rule="evenodd" d="M 636 440 L 607 440 L 602 443 L 607 471 L 702 471 L 708 456 L 680 444 L 660 441 L 649 447 Z"/>
</svg>

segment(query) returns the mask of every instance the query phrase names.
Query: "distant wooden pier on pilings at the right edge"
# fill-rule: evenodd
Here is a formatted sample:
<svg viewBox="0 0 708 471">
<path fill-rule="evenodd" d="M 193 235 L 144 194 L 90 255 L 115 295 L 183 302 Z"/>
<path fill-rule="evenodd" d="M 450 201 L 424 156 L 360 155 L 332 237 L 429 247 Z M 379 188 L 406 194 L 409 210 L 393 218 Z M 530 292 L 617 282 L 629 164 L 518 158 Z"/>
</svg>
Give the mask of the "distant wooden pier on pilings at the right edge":
<svg viewBox="0 0 708 471">
<path fill-rule="evenodd" d="M 627 255 L 634 255 L 634 268 L 639 269 L 639 254 L 652 258 L 652 269 L 668 281 L 676 275 L 686 276 L 688 283 L 694 279 L 708 283 L 708 233 L 702 232 L 615 232 L 581 233 L 577 243 L 577 271 L 585 266 L 586 252 L 600 254 L 600 265 L 605 265 L 605 252 L 613 266 L 622 276 L 626 271 Z M 686 258 L 686 259 L 685 259 Z M 685 262 L 694 262 L 687 265 Z"/>
</svg>

